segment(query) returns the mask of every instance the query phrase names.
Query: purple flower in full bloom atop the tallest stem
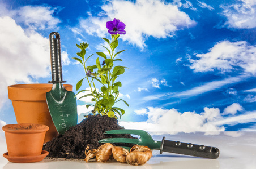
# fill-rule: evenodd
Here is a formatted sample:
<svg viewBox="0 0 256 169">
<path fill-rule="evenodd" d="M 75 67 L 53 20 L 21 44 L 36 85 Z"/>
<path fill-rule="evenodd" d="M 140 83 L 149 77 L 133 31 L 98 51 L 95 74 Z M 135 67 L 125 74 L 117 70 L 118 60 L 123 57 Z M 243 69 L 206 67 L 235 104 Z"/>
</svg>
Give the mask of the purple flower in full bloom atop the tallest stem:
<svg viewBox="0 0 256 169">
<path fill-rule="evenodd" d="M 113 21 L 106 22 L 106 28 L 108 28 L 110 34 L 126 34 L 125 24 L 116 18 Z"/>
</svg>

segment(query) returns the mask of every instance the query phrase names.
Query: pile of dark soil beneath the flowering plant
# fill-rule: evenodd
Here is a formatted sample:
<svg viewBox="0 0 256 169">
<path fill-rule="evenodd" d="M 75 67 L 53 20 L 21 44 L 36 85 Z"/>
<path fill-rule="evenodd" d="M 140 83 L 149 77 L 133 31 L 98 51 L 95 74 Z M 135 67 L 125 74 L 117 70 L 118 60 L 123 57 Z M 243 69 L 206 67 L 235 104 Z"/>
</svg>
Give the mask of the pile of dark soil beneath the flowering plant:
<svg viewBox="0 0 256 169">
<path fill-rule="evenodd" d="M 104 135 L 108 130 L 122 129 L 117 119 L 109 118 L 106 115 L 89 115 L 88 118 L 74 127 L 71 127 L 65 134 L 59 134 L 47 142 L 43 150 L 49 152 L 48 157 L 84 159 L 84 150 L 87 146 L 90 149 L 97 149 L 102 143 L 99 140 L 112 137 L 134 138 L 130 134 Z M 134 144 L 115 143 L 114 146 L 133 146 Z"/>
</svg>

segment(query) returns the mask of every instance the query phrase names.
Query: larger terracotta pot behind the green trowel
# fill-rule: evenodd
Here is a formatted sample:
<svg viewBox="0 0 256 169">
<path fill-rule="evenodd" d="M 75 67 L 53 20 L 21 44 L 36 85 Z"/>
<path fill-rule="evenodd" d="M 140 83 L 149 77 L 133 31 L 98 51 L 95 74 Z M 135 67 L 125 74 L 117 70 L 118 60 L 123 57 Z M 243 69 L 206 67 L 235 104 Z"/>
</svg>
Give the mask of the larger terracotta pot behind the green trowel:
<svg viewBox="0 0 256 169">
<path fill-rule="evenodd" d="M 72 91 L 70 84 L 63 85 Z M 8 86 L 8 96 L 12 101 L 17 123 L 44 124 L 50 129 L 46 132 L 44 143 L 58 135 L 46 103 L 46 92 L 52 90 L 52 84 L 16 84 Z"/>
</svg>

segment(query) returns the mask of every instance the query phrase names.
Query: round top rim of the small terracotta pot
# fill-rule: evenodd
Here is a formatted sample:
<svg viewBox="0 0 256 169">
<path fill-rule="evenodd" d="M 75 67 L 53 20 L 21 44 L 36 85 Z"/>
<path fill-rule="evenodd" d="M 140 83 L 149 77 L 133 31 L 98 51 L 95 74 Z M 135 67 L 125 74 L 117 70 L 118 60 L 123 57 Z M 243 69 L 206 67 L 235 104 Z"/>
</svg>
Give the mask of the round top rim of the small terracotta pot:
<svg viewBox="0 0 256 169">
<path fill-rule="evenodd" d="M 2 127 L 2 130 L 9 133 L 15 134 L 31 134 L 46 132 L 49 127 L 44 124 L 33 124 L 33 123 L 19 123 L 19 124 L 7 124 Z"/>
</svg>

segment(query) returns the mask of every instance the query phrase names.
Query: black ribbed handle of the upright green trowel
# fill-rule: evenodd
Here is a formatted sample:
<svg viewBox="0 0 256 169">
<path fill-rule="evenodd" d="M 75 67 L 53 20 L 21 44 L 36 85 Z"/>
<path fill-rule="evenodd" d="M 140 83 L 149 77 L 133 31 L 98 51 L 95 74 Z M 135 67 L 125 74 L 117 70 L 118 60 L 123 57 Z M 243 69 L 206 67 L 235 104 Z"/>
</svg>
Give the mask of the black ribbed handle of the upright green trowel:
<svg viewBox="0 0 256 169">
<path fill-rule="evenodd" d="M 49 81 L 49 83 L 66 82 L 62 81 L 61 35 L 58 32 L 50 33 L 50 63 L 52 66 L 52 81 Z"/>
</svg>

